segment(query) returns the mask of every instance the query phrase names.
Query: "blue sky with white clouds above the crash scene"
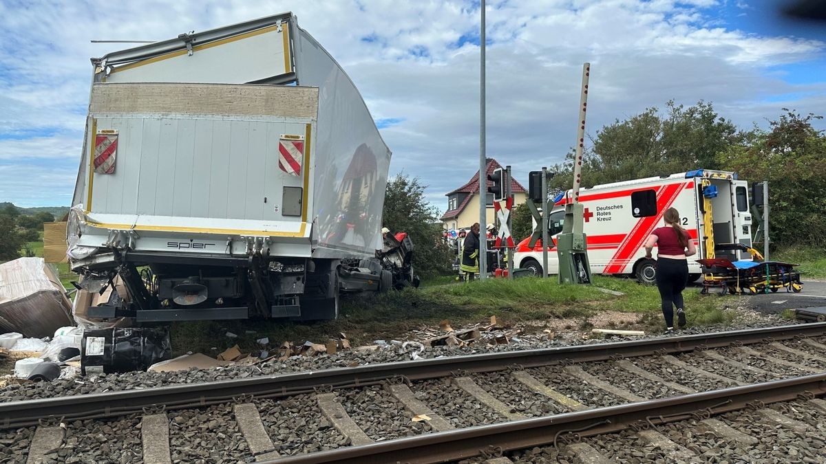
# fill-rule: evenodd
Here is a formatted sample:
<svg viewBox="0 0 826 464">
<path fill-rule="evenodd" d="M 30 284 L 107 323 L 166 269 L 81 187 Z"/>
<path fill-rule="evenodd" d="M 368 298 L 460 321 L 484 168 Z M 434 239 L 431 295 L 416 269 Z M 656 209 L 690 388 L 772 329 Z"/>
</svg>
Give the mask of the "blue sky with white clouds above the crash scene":
<svg viewBox="0 0 826 464">
<path fill-rule="evenodd" d="M 782 107 L 823 114 L 826 25 L 777 0 L 496 0 L 487 7 L 487 153 L 527 172 L 563 159 L 582 63 L 587 130 L 674 99 L 712 102 L 748 129 Z M 291 11 L 353 78 L 393 151 L 391 173 L 445 192 L 478 159 L 479 2 L 0 0 L 0 201 L 69 205 L 89 58 Z M 819 122 L 824 125 L 824 121 Z"/>
</svg>

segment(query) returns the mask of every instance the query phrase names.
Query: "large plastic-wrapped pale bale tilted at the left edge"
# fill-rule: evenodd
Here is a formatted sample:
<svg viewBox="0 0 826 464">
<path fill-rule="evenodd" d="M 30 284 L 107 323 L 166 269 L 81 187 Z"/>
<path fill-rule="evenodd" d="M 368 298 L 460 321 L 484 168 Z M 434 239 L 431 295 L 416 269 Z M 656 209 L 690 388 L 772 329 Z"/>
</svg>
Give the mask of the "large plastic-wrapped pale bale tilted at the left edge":
<svg viewBox="0 0 826 464">
<path fill-rule="evenodd" d="M 43 258 L 0 264 L 0 329 L 49 337 L 71 325 L 71 304 L 54 268 Z"/>
</svg>

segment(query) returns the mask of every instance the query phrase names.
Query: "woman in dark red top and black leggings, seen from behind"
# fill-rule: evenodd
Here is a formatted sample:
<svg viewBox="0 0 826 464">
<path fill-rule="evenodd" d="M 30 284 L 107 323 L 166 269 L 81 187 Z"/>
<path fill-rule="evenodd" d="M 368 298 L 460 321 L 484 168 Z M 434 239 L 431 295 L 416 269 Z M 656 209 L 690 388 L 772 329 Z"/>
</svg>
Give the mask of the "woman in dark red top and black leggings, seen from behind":
<svg viewBox="0 0 826 464">
<path fill-rule="evenodd" d="M 662 215 L 666 226 L 655 229 L 645 242 L 645 257 L 651 258 L 651 250 L 657 245 L 657 289 L 662 299 L 662 316 L 666 319 L 666 333 L 674 331 L 674 308 L 677 324 L 686 326 L 686 311 L 682 304 L 682 291 L 688 283 L 688 259 L 697 253 L 694 241 L 680 226 L 680 213 L 668 208 Z"/>
</svg>

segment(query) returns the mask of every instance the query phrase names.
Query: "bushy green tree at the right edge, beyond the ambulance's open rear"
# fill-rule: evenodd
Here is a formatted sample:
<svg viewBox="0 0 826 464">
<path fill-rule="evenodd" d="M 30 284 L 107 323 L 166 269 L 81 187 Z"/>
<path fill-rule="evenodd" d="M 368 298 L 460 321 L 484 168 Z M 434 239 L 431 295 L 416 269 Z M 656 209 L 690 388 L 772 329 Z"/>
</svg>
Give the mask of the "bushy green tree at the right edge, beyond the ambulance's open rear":
<svg viewBox="0 0 826 464">
<path fill-rule="evenodd" d="M 769 230 L 776 245 L 826 246 L 826 135 L 809 113 L 769 121 L 770 130 L 752 130 L 743 143 L 719 155 L 719 163 L 750 182 L 769 181 Z"/>
</svg>

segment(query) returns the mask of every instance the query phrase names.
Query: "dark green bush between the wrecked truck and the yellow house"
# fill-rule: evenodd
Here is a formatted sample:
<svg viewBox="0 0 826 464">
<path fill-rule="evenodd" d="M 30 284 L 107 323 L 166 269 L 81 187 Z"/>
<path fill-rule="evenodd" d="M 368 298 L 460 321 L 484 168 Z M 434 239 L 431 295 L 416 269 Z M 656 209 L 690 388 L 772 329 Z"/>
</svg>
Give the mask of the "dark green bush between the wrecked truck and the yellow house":
<svg viewBox="0 0 826 464">
<path fill-rule="evenodd" d="M 442 239 L 439 210 L 425 200 L 419 178 L 399 174 L 387 182 L 383 225 L 393 233 L 406 232 L 413 241 L 413 265 L 420 275 L 452 272 L 451 254 Z"/>
</svg>

